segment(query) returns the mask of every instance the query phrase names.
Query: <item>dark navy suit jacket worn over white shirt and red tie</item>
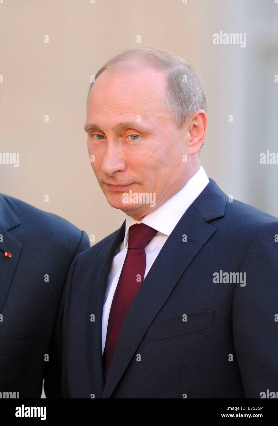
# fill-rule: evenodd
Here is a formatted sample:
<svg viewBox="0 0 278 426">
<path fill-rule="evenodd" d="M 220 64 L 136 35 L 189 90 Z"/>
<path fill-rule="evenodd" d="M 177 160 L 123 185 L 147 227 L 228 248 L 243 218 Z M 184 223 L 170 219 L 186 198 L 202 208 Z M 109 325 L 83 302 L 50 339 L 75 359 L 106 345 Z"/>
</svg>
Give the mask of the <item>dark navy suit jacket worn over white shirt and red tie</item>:
<svg viewBox="0 0 278 426">
<path fill-rule="evenodd" d="M 77 256 L 65 293 L 63 396 L 259 398 L 278 391 L 277 234 L 278 219 L 229 202 L 210 180 L 142 282 L 105 385 L 102 309 L 125 223 Z M 246 285 L 214 283 L 221 270 L 246 273 Z"/>
</svg>

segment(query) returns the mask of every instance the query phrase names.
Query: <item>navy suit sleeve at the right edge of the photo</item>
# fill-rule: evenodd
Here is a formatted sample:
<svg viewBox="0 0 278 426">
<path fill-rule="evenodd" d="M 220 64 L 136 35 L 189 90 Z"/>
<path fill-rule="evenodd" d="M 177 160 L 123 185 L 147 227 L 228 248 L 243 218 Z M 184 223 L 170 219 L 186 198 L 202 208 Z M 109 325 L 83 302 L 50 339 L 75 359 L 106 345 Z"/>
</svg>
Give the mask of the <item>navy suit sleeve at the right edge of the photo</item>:
<svg viewBox="0 0 278 426">
<path fill-rule="evenodd" d="M 278 222 L 249 243 L 233 299 L 235 351 L 246 398 L 278 391 Z M 261 394 L 261 395 L 260 395 Z"/>
</svg>

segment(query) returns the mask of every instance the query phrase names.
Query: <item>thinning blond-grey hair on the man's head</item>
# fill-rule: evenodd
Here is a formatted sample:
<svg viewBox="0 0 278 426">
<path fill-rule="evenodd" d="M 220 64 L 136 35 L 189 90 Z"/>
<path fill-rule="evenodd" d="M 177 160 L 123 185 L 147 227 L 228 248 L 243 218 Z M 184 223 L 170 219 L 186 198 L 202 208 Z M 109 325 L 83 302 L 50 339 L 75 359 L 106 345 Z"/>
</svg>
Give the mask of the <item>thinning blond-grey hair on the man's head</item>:
<svg viewBox="0 0 278 426">
<path fill-rule="evenodd" d="M 127 49 L 108 60 L 96 73 L 95 81 L 106 69 L 111 71 L 116 69 L 134 70 L 138 68 L 138 62 L 140 66 L 165 72 L 167 86 L 162 106 L 171 113 L 178 129 L 181 129 L 198 109 L 203 109 L 207 112 L 206 93 L 197 71 L 180 56 L 165 50 L 153 47 Z M 93 84 L 94 82 L 91 83 L 88 92 L 87 107 Z M 202 150 L 203 146 L 199 153 Z"/>
</svg>

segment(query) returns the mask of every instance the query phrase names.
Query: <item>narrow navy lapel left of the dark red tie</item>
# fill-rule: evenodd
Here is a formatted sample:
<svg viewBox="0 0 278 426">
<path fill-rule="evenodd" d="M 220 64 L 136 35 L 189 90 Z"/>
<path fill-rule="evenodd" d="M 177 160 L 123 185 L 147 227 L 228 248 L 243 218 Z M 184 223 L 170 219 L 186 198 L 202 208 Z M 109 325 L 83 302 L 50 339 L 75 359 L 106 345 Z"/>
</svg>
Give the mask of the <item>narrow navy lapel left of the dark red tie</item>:
<svg viewBox="0 0 278 426">
<path fill-rule="evenodd" d="M 101 339 L 101 327 L 102 327 L 102 311 L 104 305 L 105 292 L 107 287 L 107 280 L 110 273 L 111 265 L 113 262 L 113 257 L 115 256 L 116 249 L 119 247 L 125 236 L 125 222 L 122 224 L 122 227 L 116 231 L 113 240 L 109 245 L 105 246 L 101 253 L 99 253 L 99 262 L 97 265 L 94 265 L 94 268 L 98 268 L 99 265 L 103 265 L 100 268 L 99 272 L 93 271 L 93 281 L 98 283 L 96 285 L 93 293 L 91 294 L 89 303 L 87 318 L 90 318 L 92 312 L 96 312 L 96 324 L 94 332 L 92 333 L 92 326 L 90 322 L 87 322 L 87 360 L 88 368 L 90 371 L 90 383 L 93 383 L 91 393 L 95 394 L 96 398 L 100 398 L 103 386 L 103 365 L 102 365 L 102 339 Z M 108 254 L 107 254 L 108 253 Z M 102 259 L 102 260 L 101 260 Z M 102 263 L 103 262 L 103 263 Z M 92 274 L 89 274 L 92 277 Z M 90 278 L 91 279 L 91 278 Z M 92 286 L 90 286 L 92 287 Z"/>
</svg>

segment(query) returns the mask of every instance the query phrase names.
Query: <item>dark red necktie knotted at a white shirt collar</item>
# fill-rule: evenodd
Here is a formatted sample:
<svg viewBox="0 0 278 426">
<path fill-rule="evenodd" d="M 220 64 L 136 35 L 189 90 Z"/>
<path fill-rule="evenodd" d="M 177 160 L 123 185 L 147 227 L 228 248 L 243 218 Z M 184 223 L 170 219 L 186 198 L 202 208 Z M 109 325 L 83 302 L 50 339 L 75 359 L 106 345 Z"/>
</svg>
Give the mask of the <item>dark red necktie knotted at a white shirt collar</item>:
<svg viewBox="0 0 278 426">
<path fill-rule="evenodd" d="M 104 380 L 106 380 L 110 368 L 122 321 L 144 279 L 145 247 L 156 233 L 157 230 L 144 223 L 136 223 L 128 230 L 127 254 L 113 297 L 107 325 L 103 352 Z"/>
</svg>

